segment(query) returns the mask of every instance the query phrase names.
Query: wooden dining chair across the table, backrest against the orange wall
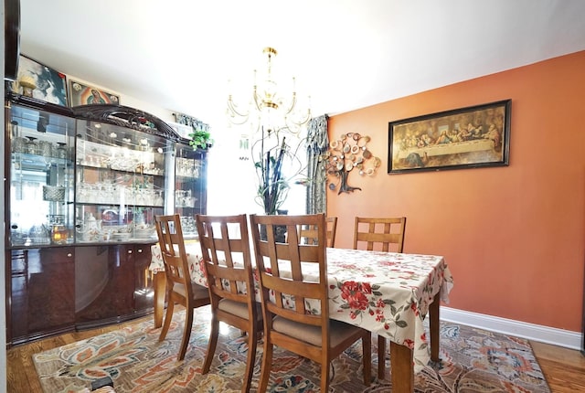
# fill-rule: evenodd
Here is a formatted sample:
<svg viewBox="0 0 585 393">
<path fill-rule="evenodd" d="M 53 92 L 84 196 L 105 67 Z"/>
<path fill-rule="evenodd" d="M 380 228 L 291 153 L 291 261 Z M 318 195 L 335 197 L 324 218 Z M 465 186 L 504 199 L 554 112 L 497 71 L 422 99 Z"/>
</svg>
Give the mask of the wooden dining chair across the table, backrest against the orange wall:
<svg viewBox="0 0 585 393">
<path fill-rule="evenodd" d="M 366 243 L 366 250 L 402 252 L 406 217 L 363 218 L 356 217 L 354 250 Z M 392 248 L 390 248 L 390 245 Z M 386 337 L 378 335 L 378 378 L 386 374 Z"/>
</svg>

